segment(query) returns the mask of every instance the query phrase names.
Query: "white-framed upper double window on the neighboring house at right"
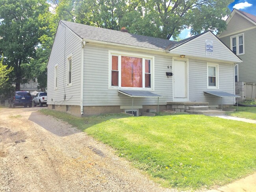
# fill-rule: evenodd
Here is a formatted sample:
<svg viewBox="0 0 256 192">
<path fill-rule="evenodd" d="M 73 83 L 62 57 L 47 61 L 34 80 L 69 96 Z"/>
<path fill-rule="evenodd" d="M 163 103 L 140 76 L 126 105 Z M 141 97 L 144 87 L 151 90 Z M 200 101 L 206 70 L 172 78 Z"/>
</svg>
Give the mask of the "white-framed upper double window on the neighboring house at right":
<svg viewBox="0 0 256 192">
<path fill-rule="evenodd" d="M 243 34 L 230 37 L 230 43 L 231 43 L 232 51 L 236 55 L 245 54 L 244 35 Z"/>
</svg>

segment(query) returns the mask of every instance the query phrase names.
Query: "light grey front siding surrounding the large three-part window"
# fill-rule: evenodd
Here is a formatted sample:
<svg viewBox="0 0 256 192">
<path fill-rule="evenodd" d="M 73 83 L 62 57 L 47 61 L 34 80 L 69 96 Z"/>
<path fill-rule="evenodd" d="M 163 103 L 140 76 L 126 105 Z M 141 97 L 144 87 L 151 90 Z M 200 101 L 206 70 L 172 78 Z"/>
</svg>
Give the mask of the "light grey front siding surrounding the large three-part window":
<svg viewBox="0 0 256 192">
<path fill-rule="evenodd" d="M 123 48 L 108 48 L 86 44 L 84 48 L 84 105 L 132 105 L 132 98 L 118 93 L 118 89 L 109 89 L 109 50 L 127 54 L 142 54 L 154 56 L 154 90 L 155 94 L 163 96 L 159 98 L 159 104 L 165 105 L 172 100 L 172 77 L 167 78 L 165 72 L 172 65 L 172 57 L 169 55 L 151 54 L 148 52 L 132 51 Z M 134 105 L 156 105 L 157 98 L 134 98 Z"/>
</svg>

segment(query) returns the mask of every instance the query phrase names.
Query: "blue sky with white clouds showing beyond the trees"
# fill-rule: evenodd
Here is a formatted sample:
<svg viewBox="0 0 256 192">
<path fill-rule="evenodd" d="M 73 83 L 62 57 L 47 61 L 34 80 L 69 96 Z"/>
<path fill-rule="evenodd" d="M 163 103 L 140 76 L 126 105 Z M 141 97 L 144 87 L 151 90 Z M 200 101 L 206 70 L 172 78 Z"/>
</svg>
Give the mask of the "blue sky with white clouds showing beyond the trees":
<svg viewBox="0 0 256 192">
<path fill-rule="evenodd" d="M 239 9 L 241 11 L 245 11 L 247 13 L 250 13 L 252 15 L 256 15 L 256 0 L 235 0 L 233 3 L 231 3 L 228 8 L 230 11 L 233 10 L 233 8 Z M 190 30 L 186 29 L 183 30 L 180 33 L 181 38 L 188 38 L 190 37 Z"/>
</svg>

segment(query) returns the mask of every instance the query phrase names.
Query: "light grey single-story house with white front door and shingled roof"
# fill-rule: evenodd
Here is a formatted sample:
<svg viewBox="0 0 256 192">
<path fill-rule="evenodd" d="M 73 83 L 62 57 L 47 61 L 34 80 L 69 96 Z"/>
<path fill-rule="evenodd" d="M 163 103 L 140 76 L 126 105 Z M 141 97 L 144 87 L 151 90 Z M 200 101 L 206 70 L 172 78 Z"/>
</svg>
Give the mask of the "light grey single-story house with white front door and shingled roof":
<svg viewBox="0 0 256 192">
<path fill-rule="evenodd" d="M 47 104 L 78 116 L 234 105 L 240 62 L 211 31 L 176 42 L 61 20 Z"/>
</svg>

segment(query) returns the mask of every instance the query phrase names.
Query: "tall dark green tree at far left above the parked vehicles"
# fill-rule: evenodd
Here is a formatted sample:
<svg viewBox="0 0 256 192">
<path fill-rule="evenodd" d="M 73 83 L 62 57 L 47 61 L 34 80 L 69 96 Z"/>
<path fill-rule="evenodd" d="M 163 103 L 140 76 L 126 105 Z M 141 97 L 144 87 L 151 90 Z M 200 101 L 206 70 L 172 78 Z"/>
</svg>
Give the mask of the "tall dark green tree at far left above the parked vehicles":
<svg viewBox="0 0 256 192">
<path fill-rule="evenodd" d="M 1 0 L 0 1 L 0 53 L 6 63 L 13 67 L 10 74 L 16 90 L 26 81 L 30 71 L 22 65 L 30 63 L 36 56 L 39 38 L 45 33 L 45 24 L 39 16 L 48 11 L 45 0 Z"/>
</svg>

